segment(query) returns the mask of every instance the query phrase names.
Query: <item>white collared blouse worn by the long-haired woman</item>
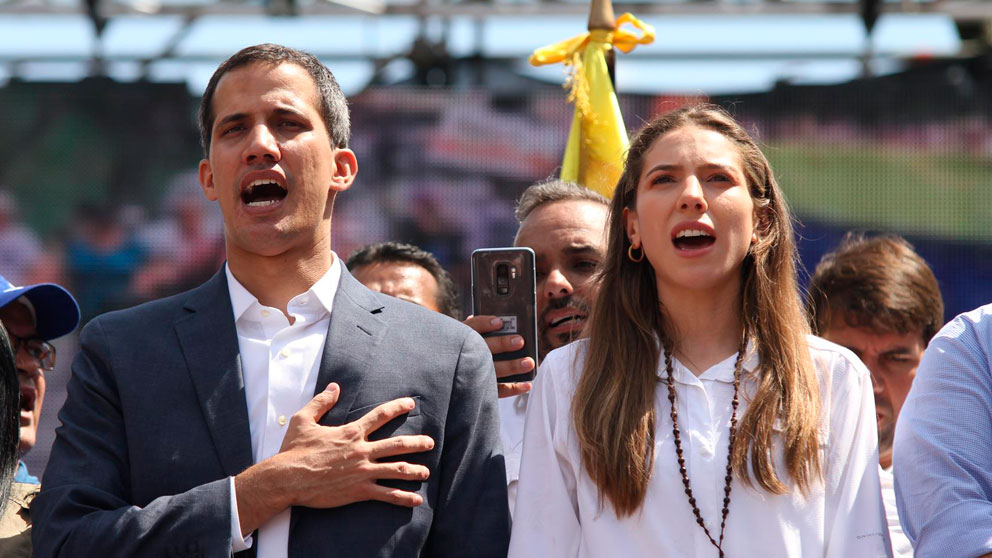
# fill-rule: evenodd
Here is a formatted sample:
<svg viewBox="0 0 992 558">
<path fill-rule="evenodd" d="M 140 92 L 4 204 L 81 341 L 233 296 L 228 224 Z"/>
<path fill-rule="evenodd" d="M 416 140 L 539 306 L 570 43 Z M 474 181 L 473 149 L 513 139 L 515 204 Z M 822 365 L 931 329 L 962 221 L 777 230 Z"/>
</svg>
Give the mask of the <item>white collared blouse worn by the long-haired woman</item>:
<svg viewBox="0 0 992 558">
<path fill-rule="evenodd" d="M 570 418 L 588 340 L 552 351 L 531 393 L 511 557 L 718 556 L 696 524 L 678 472 L 664 362 L 655 388 L 655 462 L 640 511 L 618 518 L 585 473 Z M 878 478 L 875 404 L 868 370 L 846 349 L 809 337 L 823 394 L 823 482 L 805 498 L 773 495 L 734 478 L 723 549 L 728 558 L 873 558 L 892 555 Z M 696 377 L 673 359 L 682 448 L 700 513 L 719 538 L 736 355 Z M 738 416 L 758 357 L 743 362 Z M 780 430 L 780 425 L 776 425 Z M 781 439 L 774 463 L 788 483 Z"/>
</svg>

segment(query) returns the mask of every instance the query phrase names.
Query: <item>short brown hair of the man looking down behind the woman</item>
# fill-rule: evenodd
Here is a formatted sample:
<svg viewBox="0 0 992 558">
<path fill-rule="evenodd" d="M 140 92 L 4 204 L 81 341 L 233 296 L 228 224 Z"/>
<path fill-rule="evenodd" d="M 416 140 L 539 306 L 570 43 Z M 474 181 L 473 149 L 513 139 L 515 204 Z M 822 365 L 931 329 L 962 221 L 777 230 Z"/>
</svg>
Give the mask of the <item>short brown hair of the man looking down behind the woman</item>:
<svg viewBox="0 0 992 558">
<path fill-rule="evenodd" d="M 850 327 L 922 331 L 924 346 L 944 324 L 944 301 L 933 271 L 897 235 L 848 233 L 816 266 L 807 310 L 817 333 L 830 328 L 836 310 Z"/>
</svg>

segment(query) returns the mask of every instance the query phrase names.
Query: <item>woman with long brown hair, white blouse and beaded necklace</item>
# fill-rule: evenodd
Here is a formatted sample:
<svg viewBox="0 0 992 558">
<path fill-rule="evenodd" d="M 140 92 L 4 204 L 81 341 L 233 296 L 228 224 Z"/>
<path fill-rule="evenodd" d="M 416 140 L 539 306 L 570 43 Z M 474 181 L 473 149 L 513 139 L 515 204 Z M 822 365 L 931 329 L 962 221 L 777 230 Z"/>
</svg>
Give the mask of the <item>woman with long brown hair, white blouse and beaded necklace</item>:
<svg viewBox="0 0 992 558">
<path fill-rule="evenodd" d="M 649 122 L 608 227 L 588 337 L 531 396 L 510 555 L 890 556 L 868 372 L 809 335 L 747 132 Z"/>
</svg>

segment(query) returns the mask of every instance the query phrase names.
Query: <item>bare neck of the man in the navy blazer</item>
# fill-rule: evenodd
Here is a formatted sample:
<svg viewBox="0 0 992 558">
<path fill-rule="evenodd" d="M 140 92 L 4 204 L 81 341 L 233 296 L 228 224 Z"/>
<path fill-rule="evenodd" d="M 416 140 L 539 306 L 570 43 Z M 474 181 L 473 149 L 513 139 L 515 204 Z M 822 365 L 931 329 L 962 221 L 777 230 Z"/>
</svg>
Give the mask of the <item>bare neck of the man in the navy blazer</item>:
<svg viewBox="0 0 992 558">
<path fill-rule="evenodd" d="M 228 253 L 227 265 L 234 277 L 263 306 L 280 310 L 292 322 L 289 301 L 314 285 L 334 262 L 330 248 L 314 250 L 305 257 L 287 254 L 259 256 Z"/>
</svg>

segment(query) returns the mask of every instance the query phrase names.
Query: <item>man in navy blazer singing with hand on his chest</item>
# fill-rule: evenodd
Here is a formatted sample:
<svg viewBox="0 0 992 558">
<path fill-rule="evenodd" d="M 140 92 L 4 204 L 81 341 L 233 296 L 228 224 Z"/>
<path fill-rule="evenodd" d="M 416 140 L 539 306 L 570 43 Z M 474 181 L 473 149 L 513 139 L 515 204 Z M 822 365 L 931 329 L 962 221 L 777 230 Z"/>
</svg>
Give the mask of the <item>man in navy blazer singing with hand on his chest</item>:
<svg viewBox="0 0 992 558">
<path fill-rule="evenodd" d="M 249 47 L 200 126 L 227 264 L 83 329 L 36 556 L 505 556 L 485 343 L 330 250 L 357 171 L 333 76 Z"/>
</svg>

